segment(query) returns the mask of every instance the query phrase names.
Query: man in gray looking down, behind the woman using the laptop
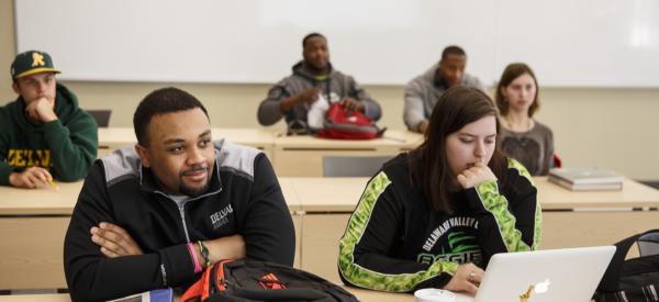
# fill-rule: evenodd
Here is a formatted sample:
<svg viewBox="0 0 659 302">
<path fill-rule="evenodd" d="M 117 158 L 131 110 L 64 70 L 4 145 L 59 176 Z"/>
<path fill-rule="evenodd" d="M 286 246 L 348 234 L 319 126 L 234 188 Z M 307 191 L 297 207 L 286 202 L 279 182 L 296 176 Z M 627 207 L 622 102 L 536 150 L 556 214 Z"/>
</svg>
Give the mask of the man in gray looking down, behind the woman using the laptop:
<svg viewBox="0 0 659 302">
<path fill-rule="evenodd" d="M 447 46 L 438 64 L 407 83 L 403 120 L 410 131 L 425 133 L 437 100 L 453 86 L 463 85 L 483 90 L 477 77 L 465 72 L 465 51 L 456 45 Z"/>
</svg>

